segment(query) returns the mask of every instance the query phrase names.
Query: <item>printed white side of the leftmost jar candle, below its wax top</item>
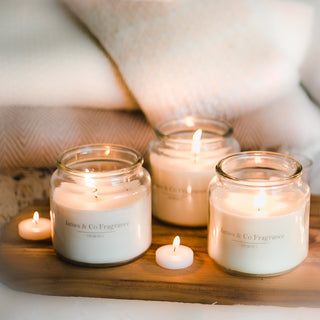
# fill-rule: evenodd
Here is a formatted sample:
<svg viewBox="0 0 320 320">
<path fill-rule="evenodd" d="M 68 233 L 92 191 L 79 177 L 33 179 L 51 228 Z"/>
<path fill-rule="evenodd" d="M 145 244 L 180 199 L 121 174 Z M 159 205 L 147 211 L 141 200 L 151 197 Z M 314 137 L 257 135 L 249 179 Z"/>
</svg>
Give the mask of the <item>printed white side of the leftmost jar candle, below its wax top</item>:
<svg viewBox="0 0 320 320">
<path fill-rule="evenodd" d="M 54 249 L 73 261 L 115 263 L 151 244 L 151 198 L 117 209 L 81 210 L 52 202 Z"/>
</svg>

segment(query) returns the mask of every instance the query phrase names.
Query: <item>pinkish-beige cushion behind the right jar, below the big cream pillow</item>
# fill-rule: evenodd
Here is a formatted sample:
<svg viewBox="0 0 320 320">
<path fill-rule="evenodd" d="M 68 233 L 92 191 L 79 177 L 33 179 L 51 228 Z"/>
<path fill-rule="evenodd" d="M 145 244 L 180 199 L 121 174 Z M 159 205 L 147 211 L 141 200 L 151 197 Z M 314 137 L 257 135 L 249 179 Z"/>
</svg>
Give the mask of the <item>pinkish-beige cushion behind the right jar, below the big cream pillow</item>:
<svg viewBox="0 0 320 320">
<path fill-rule="evenodd" d="M 232 120 L 243 149 L 305 150 L 320 136 L 320 109 L 297 85 L 268 105 Z M 311 143 L 313 145 L 313 143 Z"/>
</svg>

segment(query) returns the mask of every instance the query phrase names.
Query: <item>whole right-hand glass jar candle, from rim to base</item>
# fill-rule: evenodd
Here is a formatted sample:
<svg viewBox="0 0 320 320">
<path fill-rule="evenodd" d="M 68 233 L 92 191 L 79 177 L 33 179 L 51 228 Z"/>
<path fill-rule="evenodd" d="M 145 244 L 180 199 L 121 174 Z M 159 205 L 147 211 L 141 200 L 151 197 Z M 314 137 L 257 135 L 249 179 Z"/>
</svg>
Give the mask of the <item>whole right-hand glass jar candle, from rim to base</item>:
<svg viewBox="0 0 320 320">
<path fill-rule="evenodd" d="M 224 270 L 277 275 L 308 254 L 309 186 L 302 166 L 273 152 L 222 159 L 209 187 L 209 256 Z"/>
</svg>

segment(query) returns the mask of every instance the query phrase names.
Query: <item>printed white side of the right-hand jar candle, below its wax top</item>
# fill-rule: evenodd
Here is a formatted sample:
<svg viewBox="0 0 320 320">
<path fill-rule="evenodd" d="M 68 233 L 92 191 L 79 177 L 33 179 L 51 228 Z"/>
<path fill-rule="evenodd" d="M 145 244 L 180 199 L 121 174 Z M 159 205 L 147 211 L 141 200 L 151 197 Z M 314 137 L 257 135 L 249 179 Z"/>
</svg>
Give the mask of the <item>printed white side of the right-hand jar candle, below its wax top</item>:
<svg viewBox="0 0 320 320">
<path fill-rule="evenodd" d="M 289 270 L 308 254 L 309 203 L 279 216 L 248 217 L 211 206 L 208 253 L 227 269 L 250 274 Z"/>
</svg>

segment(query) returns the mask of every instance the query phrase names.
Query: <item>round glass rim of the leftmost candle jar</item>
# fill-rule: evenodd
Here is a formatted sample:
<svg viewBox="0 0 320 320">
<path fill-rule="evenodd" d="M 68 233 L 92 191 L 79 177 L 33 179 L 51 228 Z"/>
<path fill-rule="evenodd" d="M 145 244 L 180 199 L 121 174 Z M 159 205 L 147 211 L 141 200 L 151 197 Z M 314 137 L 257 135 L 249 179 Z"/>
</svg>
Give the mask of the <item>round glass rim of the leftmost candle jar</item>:
<svg viewBox="0 0 320 320">
<path fill-rule="evenodd" d="M 113 156 L 113 158 L 110 158 L 111 155 Z M 86 162 L 89 163 L 93 160 L 96 161 L 97 159 L 106 162 L 110 160 L 117 160 L 127 165 L 118 169 L 88 172 L 83 169 L 75 169 L 72 166 L 70 166 L 69 163 L 70 161 L 73 161 L 72 164 Z M 122 174 L 127 174 L 128 172 L 134 171 L 139 166 L 142 166 L 142 164 L 143 156 L 139 151 L 126 146 L 110 143 L 97 143 L 75 146 L 62 152 L 57 158 L 57 167 L 59 169 L 62 169 L 74 175 L 83 176 L 85 173 L 86 175 L 90 175 L 93 177 L 118 176 Z"/>
</svg>

